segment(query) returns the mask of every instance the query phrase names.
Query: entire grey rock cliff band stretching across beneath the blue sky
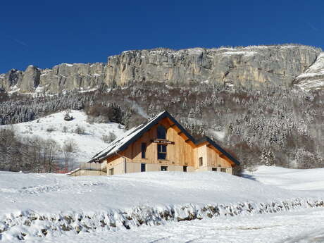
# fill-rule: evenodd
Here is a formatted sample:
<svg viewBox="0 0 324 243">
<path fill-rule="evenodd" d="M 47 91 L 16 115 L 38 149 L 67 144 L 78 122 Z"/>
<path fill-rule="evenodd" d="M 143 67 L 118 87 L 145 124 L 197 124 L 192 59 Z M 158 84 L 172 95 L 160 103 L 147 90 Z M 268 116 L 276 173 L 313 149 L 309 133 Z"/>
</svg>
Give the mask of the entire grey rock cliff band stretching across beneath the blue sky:
<svg viewBox="0 0 324 243">
<path fill-rule="evenodd" d="M 323 74 L 324 61 L 316 66 L 316 60 L 324 59 L 320 51 L 299 45 L 124 51 L 108 57 L 108 63 L 63 63 L 44 70 L 29 66 L 25 72 L 13 69 L 0 75 L 0 89 L 58 93 L 94 89 L 104 83 L 127 85 L 151 81 L 188 85 L 206 80 L 292 85 L 313 78 L 303 73 Z"/>
</svg>

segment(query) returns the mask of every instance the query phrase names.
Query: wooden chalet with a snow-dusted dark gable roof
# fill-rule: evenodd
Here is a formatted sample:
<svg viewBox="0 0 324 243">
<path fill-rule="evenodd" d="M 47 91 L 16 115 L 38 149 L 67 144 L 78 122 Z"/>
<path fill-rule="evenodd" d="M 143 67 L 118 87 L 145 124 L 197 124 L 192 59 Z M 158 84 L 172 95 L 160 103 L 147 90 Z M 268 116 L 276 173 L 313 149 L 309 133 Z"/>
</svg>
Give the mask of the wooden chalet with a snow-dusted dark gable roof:
<svg viewBox="0 0 324 243">
<path fill-rule="evenodd" d="M 125 132 L 70 175 L 144 171 L 232 173 L 239 161 L 208 137 L 194 139 L 168 111 Z"/>
</svg>

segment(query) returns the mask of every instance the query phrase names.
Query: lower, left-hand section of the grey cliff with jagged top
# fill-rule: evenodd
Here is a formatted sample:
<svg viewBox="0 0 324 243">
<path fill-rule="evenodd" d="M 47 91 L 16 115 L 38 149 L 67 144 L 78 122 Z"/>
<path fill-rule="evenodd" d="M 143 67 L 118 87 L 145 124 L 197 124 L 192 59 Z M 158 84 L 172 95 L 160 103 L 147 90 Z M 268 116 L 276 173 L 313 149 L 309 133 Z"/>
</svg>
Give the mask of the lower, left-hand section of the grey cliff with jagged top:
<svg viewBox="0 0 324 243">
<path fill-rule="evenodd" d="M 21 93 L 89 90 L 104 82 L 105 67 L 105 63 L 63 63 L 43 70 L 28 66 L 25 72 L 11 70 L 5 75 L 0 75 L 0 88 Z"/>
</svg>

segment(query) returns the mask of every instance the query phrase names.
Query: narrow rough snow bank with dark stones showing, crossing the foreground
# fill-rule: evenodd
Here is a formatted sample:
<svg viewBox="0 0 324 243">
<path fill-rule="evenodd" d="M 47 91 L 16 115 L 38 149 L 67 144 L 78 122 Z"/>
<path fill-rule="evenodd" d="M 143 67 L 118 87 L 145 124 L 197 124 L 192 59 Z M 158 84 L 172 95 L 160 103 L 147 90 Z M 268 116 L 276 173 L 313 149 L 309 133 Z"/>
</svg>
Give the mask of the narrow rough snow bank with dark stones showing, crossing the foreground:
<svg viewBox="0 0 324 243">
<path fill-rule="evenodd" d="M 168 222 L 201 220 L 221 216 L 254 215 L 292 211 L 299 208 L 323 207 L 323 200 L 294 199 L 270 203 L 197 204 L 165 207 L 139 206 L 131 210 L 110 210 L 97 213 L 41 214 L 32 211 L 11 214 L 0 222 L 0 236 L 4 240 L 32 237 L 60 236 L 65 232 L 102 232 L 137 228 L 141 225 L 164 225 Z M 0 238 L 0 239 L 1 239 Z"/>
</svg>

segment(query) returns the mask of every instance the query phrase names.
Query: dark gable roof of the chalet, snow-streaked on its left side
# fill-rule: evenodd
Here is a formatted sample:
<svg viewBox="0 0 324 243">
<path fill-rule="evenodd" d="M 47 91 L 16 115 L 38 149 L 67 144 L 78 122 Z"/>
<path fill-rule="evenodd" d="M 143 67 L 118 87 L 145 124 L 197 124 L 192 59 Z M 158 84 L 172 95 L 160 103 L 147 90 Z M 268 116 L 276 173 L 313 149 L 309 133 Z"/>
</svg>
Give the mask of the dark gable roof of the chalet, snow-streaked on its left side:
<svg viewBox="0 0 324 243">
<path fill-rule="evenodd" d="M 170 113 L 168 113 L 168 111 L 163 111 L 163 112 L 159 113 L 157 116 L 154 116 L 154 118 L 149 120 L 147 123 L 141 124 L 137 127 L 133 127 L 132 129 L 125 132 L 123 135 L 120 135 L 115 140 L 113 140 L 113 142 L 111 142 L 108 145 L 108 147 L 106 147 L 106 149 L 104 149 L 104 150 L 100 151 L 98 154 L 94 155 L 88 161 L 88 163 L 93 162 L 93 161 L 100 161 L 103 158 L 107 158 L 109 156 L 117 154 L 120 151 L 124 151 L 125 149 L 127 149 L 127 147 L 130 144 L 132 144 L 137 139 L 139 139 L 139 137 L 142 137 L 142 135 L 144 135 L 145 132 L 147 132 L 154 125 L 158 124 L 158 122 L 160 120 L 162 120 L 163 118 L 169 118 L 181 130 L 181 132 L 184 133 L 185 136 L 188 137 L 188 139 L 190 139 L 195 145 L 201 144 L 202 142 L 209 142 L 211 145 L 213 145 L 213 147 L 218 149 L 218 151 L 223 153 L 231 161 L 233 161 L 234 163 L 239 165 L 239 161 L 237 161 L 235 158 L 233 158 L 230 154 L 228 154 L 228 152 L 226 152 L 224 149 L 222 149 L 218 144 L 216 144 L 216 142 L 213 142 L 213 140 L 211 140 L 210 138 L 204 137 L 203 139 L 205 139 L 205 140 L 199 139 L 199 141 L 196 141 L 192 137 L 192 135 L 190 135 L 189 132 L 187 132 L 187 130 L 185 130 L 185 128 L 183 128 L 182 125 L 180 125 L 180 123 L 178 123 L 177 120 L 175 120 L 175 118 L 173 118 L 173 116 L 170 115 Z"/>
</svg>

